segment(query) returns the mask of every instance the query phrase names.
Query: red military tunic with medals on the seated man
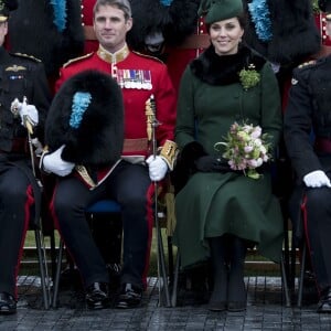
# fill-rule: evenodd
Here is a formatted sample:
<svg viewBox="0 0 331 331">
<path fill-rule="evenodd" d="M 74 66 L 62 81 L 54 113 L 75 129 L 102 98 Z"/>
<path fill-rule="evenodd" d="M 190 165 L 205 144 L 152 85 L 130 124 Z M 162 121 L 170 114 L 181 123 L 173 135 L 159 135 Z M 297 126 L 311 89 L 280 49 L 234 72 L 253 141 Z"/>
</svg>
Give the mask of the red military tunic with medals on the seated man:
<svg viewBox="0 0 331 331">
<path fill-rule="evenodd" d="M 174 140 L 175 92 L 167 66 L 159 60 L 129 51 L 110 54 L 102 46 L 96 53 L 70 61 L 60 71 L 56 90 L 71 76 L 84 70 L 109 73 L 122 88 L 125 105 L 124 157 L 143 160 L 148 156 L 146 102 L 156 99 L 158 146 Z"/>
</svg>

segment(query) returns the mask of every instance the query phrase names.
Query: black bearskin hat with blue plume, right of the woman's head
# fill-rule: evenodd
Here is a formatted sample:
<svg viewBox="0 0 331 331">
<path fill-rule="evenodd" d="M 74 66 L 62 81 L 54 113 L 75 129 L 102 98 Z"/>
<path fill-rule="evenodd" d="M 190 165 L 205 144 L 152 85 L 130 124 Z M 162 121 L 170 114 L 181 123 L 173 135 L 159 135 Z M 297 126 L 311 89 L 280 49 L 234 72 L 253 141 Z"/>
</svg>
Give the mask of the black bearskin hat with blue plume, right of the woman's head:
<svg viewBox="0 0 331 331">
<path fill-rule="evenodd" d="M 248 8 L 255 0 L 245 0 Z M 268 11 L 271 38 L 263 41 L 256 33 L 256 23 L 252 12 L 250 24 L 245 30 L 246 43 L 269 61 L 281 65 L 298 64 L 308 56 L 318 53 L 321 46 L 320 33 L 314 23 L 311 0 L 265 0 L 261 2 Z M 256 14 L 257 19 L 265 14 Z"/>
</svg>

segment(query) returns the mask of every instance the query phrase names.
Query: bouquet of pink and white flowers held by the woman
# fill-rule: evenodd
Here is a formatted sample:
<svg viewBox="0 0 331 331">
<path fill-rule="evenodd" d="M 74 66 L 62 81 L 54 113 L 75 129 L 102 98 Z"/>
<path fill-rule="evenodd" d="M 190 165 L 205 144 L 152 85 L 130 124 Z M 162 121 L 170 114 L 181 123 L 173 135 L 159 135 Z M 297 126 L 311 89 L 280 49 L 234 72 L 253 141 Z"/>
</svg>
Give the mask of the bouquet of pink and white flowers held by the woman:
<svg viewBox="0 0 331 331">
<path fill-rule="evenodd" d="M 222 156 L 228 160 L 231 169 L 242 170 L 245 175 L 258 179 L 260 174 L 256 168 L 270 160 L 266 138 L 267 135 L 261 132 L 259 126 L 234 122 L 225 141 L 216 142 L 214 148 L 223 151 Z"/>
</svg>

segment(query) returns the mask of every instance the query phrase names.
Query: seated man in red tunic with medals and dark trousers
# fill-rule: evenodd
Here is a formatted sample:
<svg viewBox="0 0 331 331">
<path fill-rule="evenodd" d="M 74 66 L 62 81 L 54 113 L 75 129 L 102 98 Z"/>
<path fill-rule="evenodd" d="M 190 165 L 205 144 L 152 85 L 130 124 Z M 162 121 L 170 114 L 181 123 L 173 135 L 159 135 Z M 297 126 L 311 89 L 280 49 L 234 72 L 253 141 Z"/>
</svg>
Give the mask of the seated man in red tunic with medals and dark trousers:
<svg viewBox="0 0 331 331">
<path fill-rule="evenodd" d="M 124 223 L 124 266 L 116 307 L 139 306 L 146 287 L 151 243 L 151 202 L 154 188 L 151 181 L 162 180 L 167 171 L 172 169 L 177 151 L 172 141 L 175 93 L 167 66 L 159 60 L 129 51 L 126 34 L 131 26 L 128 0 L 97 0 L 94 7 L 94 31 L 99 41 L 99 49 L 96 53 L 64 65 L 56 83 L 56 89 L 61 93 L 68 79 L 77 73 L 90 70 L 107 73 L 117 81 L 122 92 L 125 109 L 125 139 L 120 160 L 111 171 L 109 167 L 85 169 L 87 171 L 82 175 L 85 182 L 76 175 L 79 169 L 76 167 L 77 163 L 73 162 L 74 149 L 71 152 L 63 146 L 56 150 L 51 149 L 42 162 L 44 170 L 60 178 L 52 204 L 53 213 L 64 242 L 82 274 L 87 305 L 92 309 L 108 306 L 108 274 L 106 264 L 90 236 L 85 209 L 103 197 L 110 197 L 120 203 Z M 146 117 L 146 103 L 151 96 L 154 98 L 159 121 L 156 128 L 157 156 L 149 156 L 148 148 L 149 119 Z M 97 132 L 95 135 L 99 137 Z M 88 131 L 86 137 L 90 137 L 90 140 L 95 138 Z M 118 139 L 109 143 L 120 143 Z M 65 143 L 64 140 L 62 142 Z M 81 148 L 84 149 L 83 146 Z"/>
</svg>

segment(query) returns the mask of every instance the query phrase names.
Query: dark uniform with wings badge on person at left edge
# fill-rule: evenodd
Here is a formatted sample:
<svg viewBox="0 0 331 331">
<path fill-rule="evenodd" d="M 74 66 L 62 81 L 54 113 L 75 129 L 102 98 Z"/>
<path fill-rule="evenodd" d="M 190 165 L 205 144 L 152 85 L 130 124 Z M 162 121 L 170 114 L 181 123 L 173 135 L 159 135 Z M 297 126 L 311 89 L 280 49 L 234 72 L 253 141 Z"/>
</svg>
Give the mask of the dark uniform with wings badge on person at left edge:
<svg viewBox="0 0 331 331">
<path fill-rule="evenodd" d="M 50 105 L 43 64 L 26 55 L 10 54 L 0 47 L 0 313 L 14 312 L 7 296 L 17 299 L 17 275 L 25 233 L 34 204 L 28 131 L 11 103 L 23 97 L 39 111 L 34 135 L 42 140 L 43 122 Z M 11 298 L 10 297 L 10 298 Z M 11 306 L 12 307 L 12 306 Z M 10 311 L 9 311 L 10 310 Z"/>
</svg>

